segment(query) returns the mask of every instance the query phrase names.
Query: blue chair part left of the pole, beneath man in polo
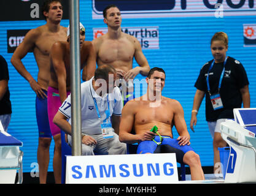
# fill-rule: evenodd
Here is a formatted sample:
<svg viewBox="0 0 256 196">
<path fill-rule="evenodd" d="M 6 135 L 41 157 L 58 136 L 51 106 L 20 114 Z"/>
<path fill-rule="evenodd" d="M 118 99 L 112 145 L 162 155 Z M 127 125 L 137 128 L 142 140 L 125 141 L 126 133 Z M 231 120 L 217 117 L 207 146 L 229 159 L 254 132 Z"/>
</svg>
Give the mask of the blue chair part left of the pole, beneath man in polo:
<svg viewBox="0 0 256 196">
<path fill-rule="evenodd" d="M 65 184 L 66 179 L 66 156 L 72 155 L 72 148 L 65 139 L 65 132 L 61 130 L 61 184 Z"/>
</svg>

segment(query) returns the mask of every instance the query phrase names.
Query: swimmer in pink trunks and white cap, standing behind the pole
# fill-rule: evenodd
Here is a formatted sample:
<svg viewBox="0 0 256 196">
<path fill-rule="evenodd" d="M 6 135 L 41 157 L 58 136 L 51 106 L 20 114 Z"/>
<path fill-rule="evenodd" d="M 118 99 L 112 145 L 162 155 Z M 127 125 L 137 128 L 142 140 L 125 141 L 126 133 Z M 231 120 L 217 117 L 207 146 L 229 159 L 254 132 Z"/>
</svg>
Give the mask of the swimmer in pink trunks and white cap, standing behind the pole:
<svg viewBox="0 0 256 196">
<path fill-rule="evenodd" d="M 82 79 L 90 80 L 96 69 L 96 58 L 93 44 L 85 41 L 85 28 L 80 23 L 80 56 Z M 69 27 L 67 32 L 67 42 L 56 42 L 50 52 L 50 81 L 48 86 L 48 119 L 50 130 L 55 141 L 53 155 L 53 173 L 55 183 L 61 183 L 61 134 L 60 128 L 52 121 L 58 108 L 68 97 L 71 91 L 70 75 L 70 46 Z"/>
</svg>

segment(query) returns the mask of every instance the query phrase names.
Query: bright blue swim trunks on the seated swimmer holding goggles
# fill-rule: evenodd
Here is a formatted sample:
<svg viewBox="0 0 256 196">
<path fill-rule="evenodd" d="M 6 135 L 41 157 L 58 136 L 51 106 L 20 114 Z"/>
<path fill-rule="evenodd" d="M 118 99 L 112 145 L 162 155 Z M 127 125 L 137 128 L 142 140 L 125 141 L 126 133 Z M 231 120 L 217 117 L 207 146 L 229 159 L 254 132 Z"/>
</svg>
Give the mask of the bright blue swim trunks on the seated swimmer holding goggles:
<svg viewBox="0 0 256 196">
<path fill-rule="evenodd" d="M 160 137 L 157 135 L 154 139 L 156 142 L 160 142 Z M 183 163 L 183 157 L 188 151 L 194 151 L 191 146 L 185 145 L 180 146 L 179 140 L 173 139 L 171 137 L 163 137 L 163 142 L 161 145 L 157 145 L 155 141 L 141 141 L 139 143 L 137 154 L 145 153 L 176 153 L 177 162 Z"/>
</svg>

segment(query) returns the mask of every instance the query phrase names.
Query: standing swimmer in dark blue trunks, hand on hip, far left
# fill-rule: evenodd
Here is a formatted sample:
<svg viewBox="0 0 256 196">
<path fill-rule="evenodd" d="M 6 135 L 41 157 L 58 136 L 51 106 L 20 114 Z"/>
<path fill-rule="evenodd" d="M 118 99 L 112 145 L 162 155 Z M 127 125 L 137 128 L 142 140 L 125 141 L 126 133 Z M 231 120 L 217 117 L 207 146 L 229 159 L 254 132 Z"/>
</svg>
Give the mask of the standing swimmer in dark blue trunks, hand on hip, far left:
<svg viewBox="0 0 256 196">
<path fill-rule="evenodd" d="M 45 0 L 42 13 L 47 21 L 45 25 L 28 31 L 23 41 L 12 55 L 12 65 L 18 73 L 29 82 L 31 89 L 36 93 L 36 119 L 39 132 L 37 162 L 39 165 L 39 181 L 47 182 L 47 170 L 50 162 L 50 131 L 47 111 L 47 89 L 50 80 L 50 50 L 53 43 L 67 40 L 67 29 L 60 25 L 63 17 L 63 7 L 60 0 Z M 33 78 L 21 61 L 32 50 L 36 59 L 38 73 L 37 81 Z M 26 114 L 24 114 L 26 115 Z M 55 143 L 55 146 L 61 143 Z M 53 158 L 53 168 L 58 167 L 58 160 Z M 55 183 L 61 183 L 59 175 L 55 175 Z"/>
</svg>

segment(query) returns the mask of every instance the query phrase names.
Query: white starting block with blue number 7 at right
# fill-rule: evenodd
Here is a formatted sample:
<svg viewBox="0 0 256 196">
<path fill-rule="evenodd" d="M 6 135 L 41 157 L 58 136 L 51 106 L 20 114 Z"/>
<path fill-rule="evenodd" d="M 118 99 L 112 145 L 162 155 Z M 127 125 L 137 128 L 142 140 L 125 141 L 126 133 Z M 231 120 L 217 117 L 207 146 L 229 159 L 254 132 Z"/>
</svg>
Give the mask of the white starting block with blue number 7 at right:
<svg viewBox="0 0 256 196">
<path fill-rule="evenodd" d="M 235 108 L 234 120 L 221 123 L 223 140 L 230 145 L 225 183 L 256 182 L 256 108 Z"/>
</svg>

